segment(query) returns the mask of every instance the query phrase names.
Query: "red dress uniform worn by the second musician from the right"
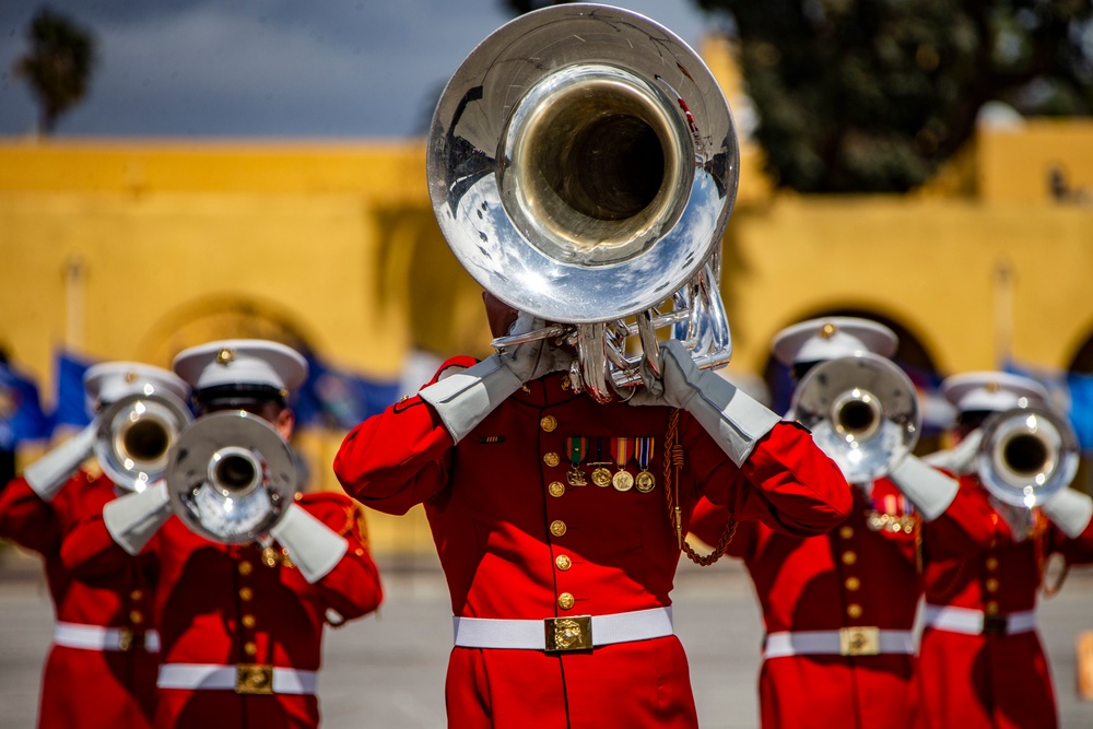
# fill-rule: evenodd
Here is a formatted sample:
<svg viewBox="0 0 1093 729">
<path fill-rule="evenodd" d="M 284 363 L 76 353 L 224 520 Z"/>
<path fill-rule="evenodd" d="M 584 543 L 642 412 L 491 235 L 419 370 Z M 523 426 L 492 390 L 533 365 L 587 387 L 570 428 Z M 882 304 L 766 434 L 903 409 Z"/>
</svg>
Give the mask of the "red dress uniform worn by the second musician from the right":
<svg viewBox="0 0 1093 729">
<path fill-rule="evenodd" d="M 880 628 L 881 635 L 904 634 L 901 645 L 908 649 L 816 655 L 800 648 L 767 656 L 759 679 L 764 729 L 922 726 L 910 634 L 922 593 L 919 562 L 983 549 L 990 538 L 987 513 L 961 492 L 943 515 L 924 526 L 886 479 L 877 481 L 869 496 L 858 486 L 851 491 L 854 510 L 837 529 L 801 538 L 742 522 L 727 553 L 744 561 L 768 636 L 842 631 L 849 639 L 855 628 Z M 692 532 L 716 543 L 726 517 L 722 507 L 703 499 Z"/>
</svg>

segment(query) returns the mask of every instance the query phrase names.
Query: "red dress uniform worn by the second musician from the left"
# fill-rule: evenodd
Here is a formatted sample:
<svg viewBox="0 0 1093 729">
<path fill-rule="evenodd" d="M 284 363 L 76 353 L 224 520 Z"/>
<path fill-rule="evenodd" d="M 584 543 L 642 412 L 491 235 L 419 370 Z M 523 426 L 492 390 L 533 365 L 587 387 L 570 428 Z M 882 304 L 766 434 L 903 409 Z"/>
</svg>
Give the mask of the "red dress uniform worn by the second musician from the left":
<svg viewBox="0 0 1093 729">
<path fill-rule="evenodd" d="M 158 566 L 155 615 L 163 666 L 267 665 L 317 671 L 328 611 L 336 621 L 359 618 L 383 599 L 379 572 L 360 531 L 359 506 L 343 494 L 312 493 L 297 504 L 349 540 L 345 556 L 309 585 L 283 550 L 221 544 L 191 532 L 172 516 L 145 545 Z M 94 576 L 132 560 L 106 530 L 102 514 L 64 542 L 64 563 Z M 314 728 L 314 694 L 240 694 L 232 690 L 160 689 L 161 728 Z"/>
</svg>

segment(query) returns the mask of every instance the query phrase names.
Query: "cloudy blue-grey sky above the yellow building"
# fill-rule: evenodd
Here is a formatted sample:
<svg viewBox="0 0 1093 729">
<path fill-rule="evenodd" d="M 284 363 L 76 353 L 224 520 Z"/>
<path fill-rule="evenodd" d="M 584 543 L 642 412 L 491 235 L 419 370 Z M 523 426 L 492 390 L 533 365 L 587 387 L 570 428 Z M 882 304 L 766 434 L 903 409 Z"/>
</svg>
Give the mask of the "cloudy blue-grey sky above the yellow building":
<svg viewBox="0 0 1093 729">
<path fill-rule="evenodd" d="M 42 2 L 0 2 L 0 136 L 36 107 L 13 78 Z M 99 62 L 58 137 L 404 138 L 422 134 L 470 50 L 512 19 L 502 0 L 50 0 Z M 618 0 L 696 46 L 694 0 Z"/>
</svg>

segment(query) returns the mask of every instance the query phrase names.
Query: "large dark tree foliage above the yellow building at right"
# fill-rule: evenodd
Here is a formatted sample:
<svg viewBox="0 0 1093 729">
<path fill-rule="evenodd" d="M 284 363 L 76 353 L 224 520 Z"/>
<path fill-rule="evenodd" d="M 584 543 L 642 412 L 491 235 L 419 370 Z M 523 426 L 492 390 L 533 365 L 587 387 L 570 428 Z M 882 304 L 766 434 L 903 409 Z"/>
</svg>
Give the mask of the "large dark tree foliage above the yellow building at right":
<svg viewBox="0 0 1093 729">
<path fill-rule="evenodd" d="M 696 0 L 739 44 L 780 187 L 898 192 L 972 137 L 988 102 L 1093 114 L 1090 0 Z"/>
</svg>

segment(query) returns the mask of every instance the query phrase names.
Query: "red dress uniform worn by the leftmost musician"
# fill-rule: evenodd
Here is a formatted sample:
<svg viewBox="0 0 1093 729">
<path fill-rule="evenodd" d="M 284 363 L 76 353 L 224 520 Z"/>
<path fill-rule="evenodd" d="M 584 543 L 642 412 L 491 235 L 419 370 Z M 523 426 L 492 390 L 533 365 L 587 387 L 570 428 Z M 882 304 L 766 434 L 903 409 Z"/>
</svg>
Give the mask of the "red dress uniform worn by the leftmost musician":
<svg viewBox="0 0 1093 729">
<path fill-rule="evenodd" d="M 115 496 L 109 479 L 86 471 L 77 472 L 48 503 L 22 478 L 0 494 L 0 537 L 42 554 L 59 627 L 121 632 L 113 634 L 116 640 L 108 650 L 50 647 L 42 677 L 40 729 L 140 728 L 152 722 L 158 656 L 144 649 L 142 636 L 154 627 L 153 578 L 132 561 L 111 579 L 90 584 L 75 579 L 61 562 L 66 534 Z"/>
</svg>

